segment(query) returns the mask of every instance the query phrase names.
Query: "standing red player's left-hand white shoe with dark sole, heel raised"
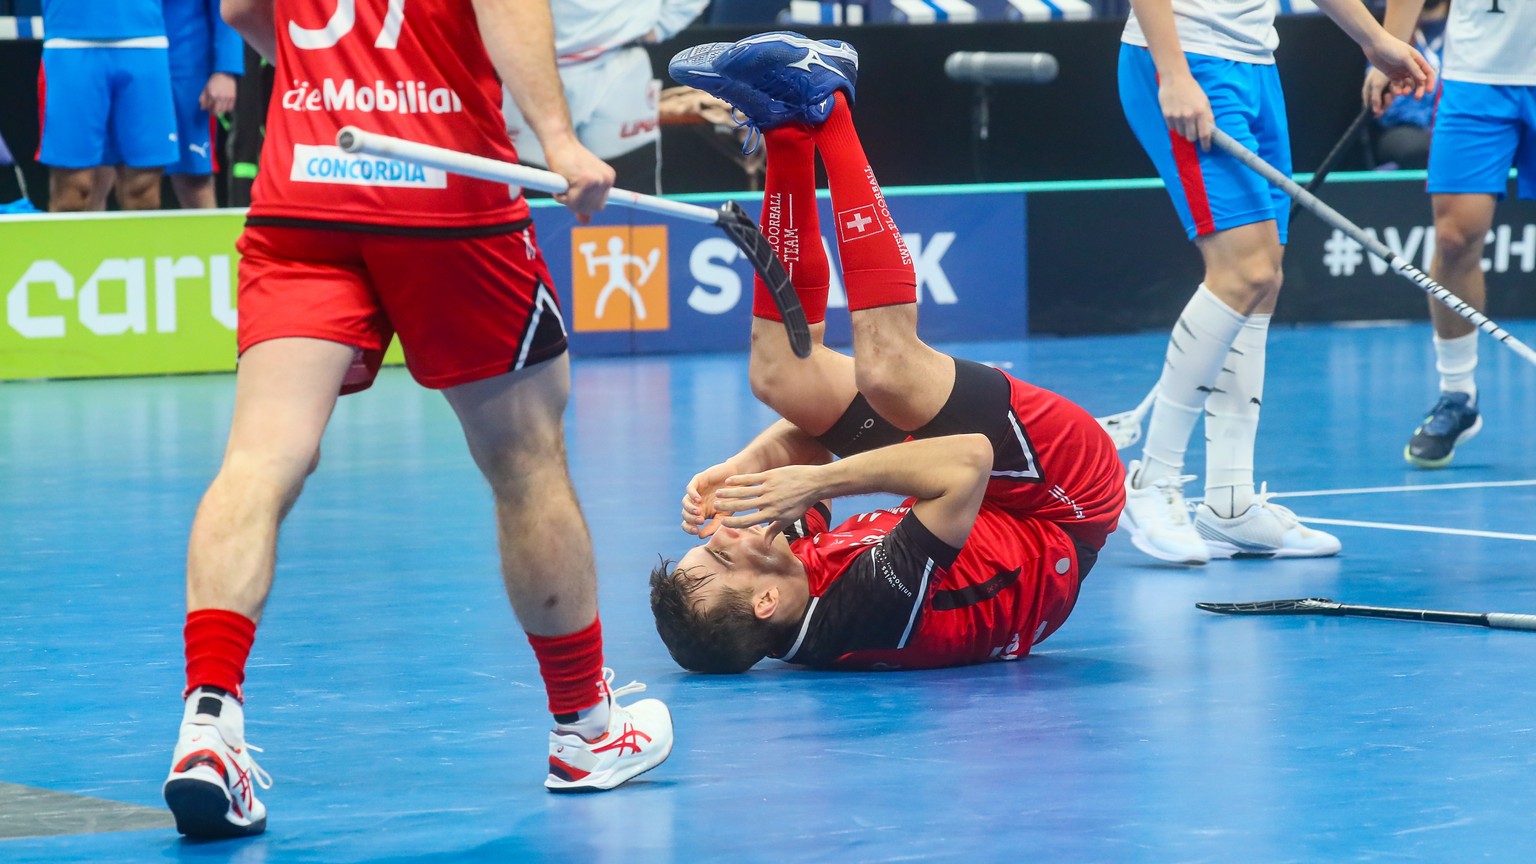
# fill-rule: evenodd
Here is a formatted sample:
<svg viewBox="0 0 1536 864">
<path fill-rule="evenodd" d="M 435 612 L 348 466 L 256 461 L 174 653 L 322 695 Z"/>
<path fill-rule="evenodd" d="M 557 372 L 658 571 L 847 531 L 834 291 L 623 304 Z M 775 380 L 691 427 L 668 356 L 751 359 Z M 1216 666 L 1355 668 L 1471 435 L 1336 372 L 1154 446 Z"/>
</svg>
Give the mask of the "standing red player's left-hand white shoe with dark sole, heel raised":
<svg viewBox="0 0 1536 864">
<path fill-rule="evenodd" d="M 246 744 L 244 726 L 233 696 L 201 687 L 187 696 L 164 786 L 178 832 L 212 839 L 267 830 L 267 809 L 255 787 L 272 789 L 272 778 L 250 758 L 250 750 L 261 749 Z"/>
</svg>

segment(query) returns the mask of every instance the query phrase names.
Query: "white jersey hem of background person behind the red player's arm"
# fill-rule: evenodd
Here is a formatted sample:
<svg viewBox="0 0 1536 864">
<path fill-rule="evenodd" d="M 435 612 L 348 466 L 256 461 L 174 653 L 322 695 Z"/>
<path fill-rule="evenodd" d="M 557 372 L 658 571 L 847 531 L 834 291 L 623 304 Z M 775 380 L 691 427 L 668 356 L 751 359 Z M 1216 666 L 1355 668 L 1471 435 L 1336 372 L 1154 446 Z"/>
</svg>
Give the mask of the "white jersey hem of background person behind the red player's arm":
<svg viewBox="0 0 1536 864">
<path fill-rule="evenodd" d="M 561 66 L 584 63 L 616 48 L 644 40 L 671 38 L 688 26 L 710 0 L 553 0 L 554 54 Z"/>
</svg>

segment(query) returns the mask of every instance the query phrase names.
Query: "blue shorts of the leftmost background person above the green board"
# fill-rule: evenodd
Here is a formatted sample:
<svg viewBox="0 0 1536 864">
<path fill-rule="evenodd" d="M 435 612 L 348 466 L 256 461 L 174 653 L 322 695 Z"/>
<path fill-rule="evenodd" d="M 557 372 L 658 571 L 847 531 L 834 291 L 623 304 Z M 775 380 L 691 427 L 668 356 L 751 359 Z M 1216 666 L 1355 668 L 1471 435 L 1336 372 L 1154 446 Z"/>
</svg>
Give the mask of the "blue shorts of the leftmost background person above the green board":
<svg viewBox="0 0 1536 864">
<path fill-rule="evenodd" d="M 177 160 L 164 48 L 43 48 L 43 145 L 54 168 Z"/>
</svg>

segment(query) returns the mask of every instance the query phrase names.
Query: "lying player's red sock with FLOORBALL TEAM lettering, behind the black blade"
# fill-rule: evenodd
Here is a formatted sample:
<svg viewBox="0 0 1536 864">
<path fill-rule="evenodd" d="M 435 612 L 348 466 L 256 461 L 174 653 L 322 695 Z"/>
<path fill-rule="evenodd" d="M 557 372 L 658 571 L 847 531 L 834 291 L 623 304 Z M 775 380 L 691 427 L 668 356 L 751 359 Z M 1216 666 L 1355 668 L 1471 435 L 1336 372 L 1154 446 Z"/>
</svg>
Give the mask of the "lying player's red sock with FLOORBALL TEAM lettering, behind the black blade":
<svg viewBox="0 0 1536 864">
<path fill-rule="evenodd" d="M 774 254 L 790 271 L 790 281 L 800 297 L 805 320 L 826 320 L 826 286 L 831 266 L 822 248 L 822 228 L 816 214 L 816 145 L 811 131 L 790 123 L 763 132 L 768 146 L 768 178 L 763 181 L 762 229 Z M 762 277 L 753 277 L 753 315 L 783 320 Z"/>
</svg>

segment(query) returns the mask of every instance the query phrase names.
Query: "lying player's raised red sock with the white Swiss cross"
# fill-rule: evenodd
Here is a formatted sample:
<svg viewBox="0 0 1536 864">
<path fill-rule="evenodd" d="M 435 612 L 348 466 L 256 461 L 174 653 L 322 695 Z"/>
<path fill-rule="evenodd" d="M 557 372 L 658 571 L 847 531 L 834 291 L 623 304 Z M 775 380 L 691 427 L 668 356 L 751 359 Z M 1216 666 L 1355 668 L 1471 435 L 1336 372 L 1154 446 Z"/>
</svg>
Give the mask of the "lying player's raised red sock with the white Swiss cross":
<svg viewBox="0 0 1536 864">
<path fill-rule="evenodd" d="M 917 274 L 902 232 L 865 157 L 846 97 L 839 92 L 833 114 L 813 134 L 833 188 L 837 257 L 843 264 L 848 309 L 917 303 Z"/>
</svg>

